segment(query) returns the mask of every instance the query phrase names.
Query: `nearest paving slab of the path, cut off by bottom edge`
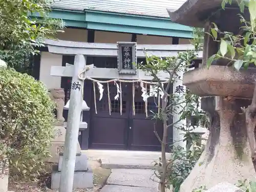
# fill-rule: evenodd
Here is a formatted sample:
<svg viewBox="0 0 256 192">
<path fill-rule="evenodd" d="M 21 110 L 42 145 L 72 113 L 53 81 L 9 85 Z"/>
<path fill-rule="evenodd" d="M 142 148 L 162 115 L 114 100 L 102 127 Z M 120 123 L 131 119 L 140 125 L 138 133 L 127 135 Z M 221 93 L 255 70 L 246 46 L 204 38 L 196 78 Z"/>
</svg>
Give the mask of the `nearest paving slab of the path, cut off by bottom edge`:
<svg viewBox="0 0 256 192">
<path fill-rule="evenodd" d="M 155 188 L 105 185 L 100 192 L 157 192 Z"/>
</svg>

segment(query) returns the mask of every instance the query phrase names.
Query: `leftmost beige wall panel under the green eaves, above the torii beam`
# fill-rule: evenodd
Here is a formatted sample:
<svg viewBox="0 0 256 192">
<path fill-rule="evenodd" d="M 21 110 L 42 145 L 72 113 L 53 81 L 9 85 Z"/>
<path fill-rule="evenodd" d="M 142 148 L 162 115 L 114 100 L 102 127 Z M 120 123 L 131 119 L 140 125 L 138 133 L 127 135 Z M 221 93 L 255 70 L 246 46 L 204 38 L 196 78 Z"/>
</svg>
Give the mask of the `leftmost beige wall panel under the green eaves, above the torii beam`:
<svg viewBox="0 0 256 192">
<path fill-rule="evenodd" d="M 63 33 L 59 32 L 57 38 L 60 40 L 87 42 L 88 31 L 86 29 L 66 28 Z"/>
</svg>

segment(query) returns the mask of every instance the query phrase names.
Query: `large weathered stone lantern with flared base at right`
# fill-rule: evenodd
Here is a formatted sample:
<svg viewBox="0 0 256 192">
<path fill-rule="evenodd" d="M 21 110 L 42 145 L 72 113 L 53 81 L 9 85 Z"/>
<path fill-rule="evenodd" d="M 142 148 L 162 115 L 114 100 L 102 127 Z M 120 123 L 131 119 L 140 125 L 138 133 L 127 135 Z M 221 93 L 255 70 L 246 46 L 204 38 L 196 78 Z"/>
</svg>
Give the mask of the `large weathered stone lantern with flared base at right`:
<svg viewBox="0 0 256 192">
<path fill-rule="evenodd" d="M 233 1 L 236 3 L 236 1 Z M 237 4 L 223 10 L 222 0 L 187 0 L 178 10 L 167 10 L 178 24 L 204 28 L 210 33 L 211 23 L 221 31 L 241 34 L 240 9 Z M 245 10 L 245 19 L 249 13 Z M 184 73 L 183 84 L 202 97 L 201 108 L 210 116 L 210 133 L 205 151 L 190 175 L 181 185 L 189 192 L 205 185 L 210 188 L 221 182 L 236 184 L 238 180 L 255 180 L 255 169 L 241 107 L 251 103 L 256 79 L 255 68 L 236 71 L 227 61 L 217 60 L 205 67 L 207 59 L 219 50 L 219 43 L 205 34 L 203 63 L 200 68 Z"/>
</svg>

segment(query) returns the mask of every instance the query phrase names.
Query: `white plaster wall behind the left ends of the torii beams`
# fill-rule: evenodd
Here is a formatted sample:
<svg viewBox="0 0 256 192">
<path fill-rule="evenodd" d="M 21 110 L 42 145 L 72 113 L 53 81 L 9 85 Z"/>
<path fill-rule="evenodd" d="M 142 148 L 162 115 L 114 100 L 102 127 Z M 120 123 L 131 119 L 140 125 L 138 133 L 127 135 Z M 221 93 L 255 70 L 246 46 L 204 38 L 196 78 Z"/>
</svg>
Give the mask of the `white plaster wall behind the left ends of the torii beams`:
<svg viewBox="0 0 256 192">
<path fill-rule="evenodd" d="M 39 80 L 46 85 L 47 89 L 60 88 L 61 77 L 50 75 L 51 66 L 62 66 L 62 55 L 41 52 Z"/>
</svg>

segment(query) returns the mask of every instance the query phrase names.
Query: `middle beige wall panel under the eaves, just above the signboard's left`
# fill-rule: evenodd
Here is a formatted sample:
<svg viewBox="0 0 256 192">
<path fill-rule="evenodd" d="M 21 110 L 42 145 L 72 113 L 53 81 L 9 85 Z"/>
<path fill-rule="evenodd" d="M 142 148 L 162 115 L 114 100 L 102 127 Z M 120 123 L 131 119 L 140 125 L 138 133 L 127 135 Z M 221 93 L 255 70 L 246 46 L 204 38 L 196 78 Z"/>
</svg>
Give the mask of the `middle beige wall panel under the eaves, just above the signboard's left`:
<svg viewBox="0 0 256 192">
<path fill-rule="evenodd" d="M 131 42 L 132 34 L 114 33 L 106 31 L 95 31 L 94 42 L 102 42 L 105 44 L 116 44 L 117 41 Z"/>
</svg>

